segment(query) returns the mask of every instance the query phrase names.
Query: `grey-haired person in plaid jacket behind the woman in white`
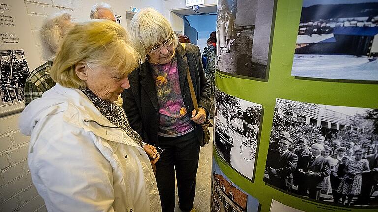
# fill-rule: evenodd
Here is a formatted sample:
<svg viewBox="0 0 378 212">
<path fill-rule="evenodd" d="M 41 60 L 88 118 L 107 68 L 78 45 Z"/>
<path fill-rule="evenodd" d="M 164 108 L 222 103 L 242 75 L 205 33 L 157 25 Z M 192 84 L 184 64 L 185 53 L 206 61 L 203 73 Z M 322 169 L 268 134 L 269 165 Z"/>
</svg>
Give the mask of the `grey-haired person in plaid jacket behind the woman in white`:
<svg viewBox="0 0 378 212">
<path fill-rule="evenodd" d="M 55 85 L 50 77 L 50 69 L 53 66 L 53 59 L 59 44 L 72 26 L 71 14 L 68 12 L 55 14 L 44 20 L 39 36 L 42 43 L 43 59 L 47 62 L 33 70 L 26 79 L 25 106 L 32 100 L 42 97 L 44 92 Z"/>
</svg>

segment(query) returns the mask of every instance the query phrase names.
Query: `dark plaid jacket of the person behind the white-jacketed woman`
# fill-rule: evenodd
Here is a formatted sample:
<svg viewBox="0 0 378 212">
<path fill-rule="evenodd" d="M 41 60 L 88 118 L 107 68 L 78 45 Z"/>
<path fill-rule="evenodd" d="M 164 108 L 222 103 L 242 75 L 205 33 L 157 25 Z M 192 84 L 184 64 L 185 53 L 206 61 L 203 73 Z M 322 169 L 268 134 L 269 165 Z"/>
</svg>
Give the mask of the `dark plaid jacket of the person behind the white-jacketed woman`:
<svg viewBox="0 0 378 212">
<path fill-rule="evenodd" d="M 25 106 L 32 102 L 32 100 L 42 97 L 44 92 L 54 87 L 55 81 L 50 77 L 52 66 L 53 61 L 49 60 L 30 73 L 25 82 Z"/>
</svg>

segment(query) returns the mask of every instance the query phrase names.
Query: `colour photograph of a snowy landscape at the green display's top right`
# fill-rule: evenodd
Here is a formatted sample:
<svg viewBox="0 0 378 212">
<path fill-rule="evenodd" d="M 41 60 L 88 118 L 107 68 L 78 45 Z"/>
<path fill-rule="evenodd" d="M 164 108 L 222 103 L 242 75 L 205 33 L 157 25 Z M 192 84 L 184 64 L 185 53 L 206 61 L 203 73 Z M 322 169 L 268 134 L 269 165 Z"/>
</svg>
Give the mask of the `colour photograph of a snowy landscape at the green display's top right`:
<svg viewBox="0 0 378 212">
<path fill-rule="evenodd" d="M 378 0 L 303 0 L 292 76 L 378 80 Z"/>
</svg>

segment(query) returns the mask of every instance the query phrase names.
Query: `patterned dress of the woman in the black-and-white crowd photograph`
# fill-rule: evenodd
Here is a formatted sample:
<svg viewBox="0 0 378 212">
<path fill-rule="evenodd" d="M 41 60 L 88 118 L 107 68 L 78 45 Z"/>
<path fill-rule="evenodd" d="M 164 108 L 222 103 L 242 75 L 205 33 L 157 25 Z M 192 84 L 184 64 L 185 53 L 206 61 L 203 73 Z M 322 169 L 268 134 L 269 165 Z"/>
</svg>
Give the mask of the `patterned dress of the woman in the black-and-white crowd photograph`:
<svg viewBox="0 0 378 212">
<path fill-rule="evenodd" d="M 347 173 L 341 180 L 338 193 L 344 195 L 354 195 L 361 193 L 362 175 L 351 175 L 349 172 L 361 172 L 369 169 L 369 162 L 366 159 L 356 161 L 355 159 L 349 160 L 347 163 Z"/>
</svg>

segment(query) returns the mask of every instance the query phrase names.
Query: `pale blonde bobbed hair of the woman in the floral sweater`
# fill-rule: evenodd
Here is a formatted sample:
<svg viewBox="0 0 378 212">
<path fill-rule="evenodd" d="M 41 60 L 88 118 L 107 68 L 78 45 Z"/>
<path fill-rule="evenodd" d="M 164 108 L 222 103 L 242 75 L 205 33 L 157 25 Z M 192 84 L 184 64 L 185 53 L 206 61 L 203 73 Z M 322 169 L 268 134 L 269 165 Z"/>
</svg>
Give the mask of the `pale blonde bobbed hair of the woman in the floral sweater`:
<svg viewBox="0 0 378 212">
<path fill-rule="evenodd" d="M 168 20 L 153 8 L 143 8 L 137 12 L 130 22 L 130 33 L 138 53 L 144 61 L 147 49 L 160 45 L 173 37 L 174 48 L 177 47 L 177 37 Z"/>
</svg>

